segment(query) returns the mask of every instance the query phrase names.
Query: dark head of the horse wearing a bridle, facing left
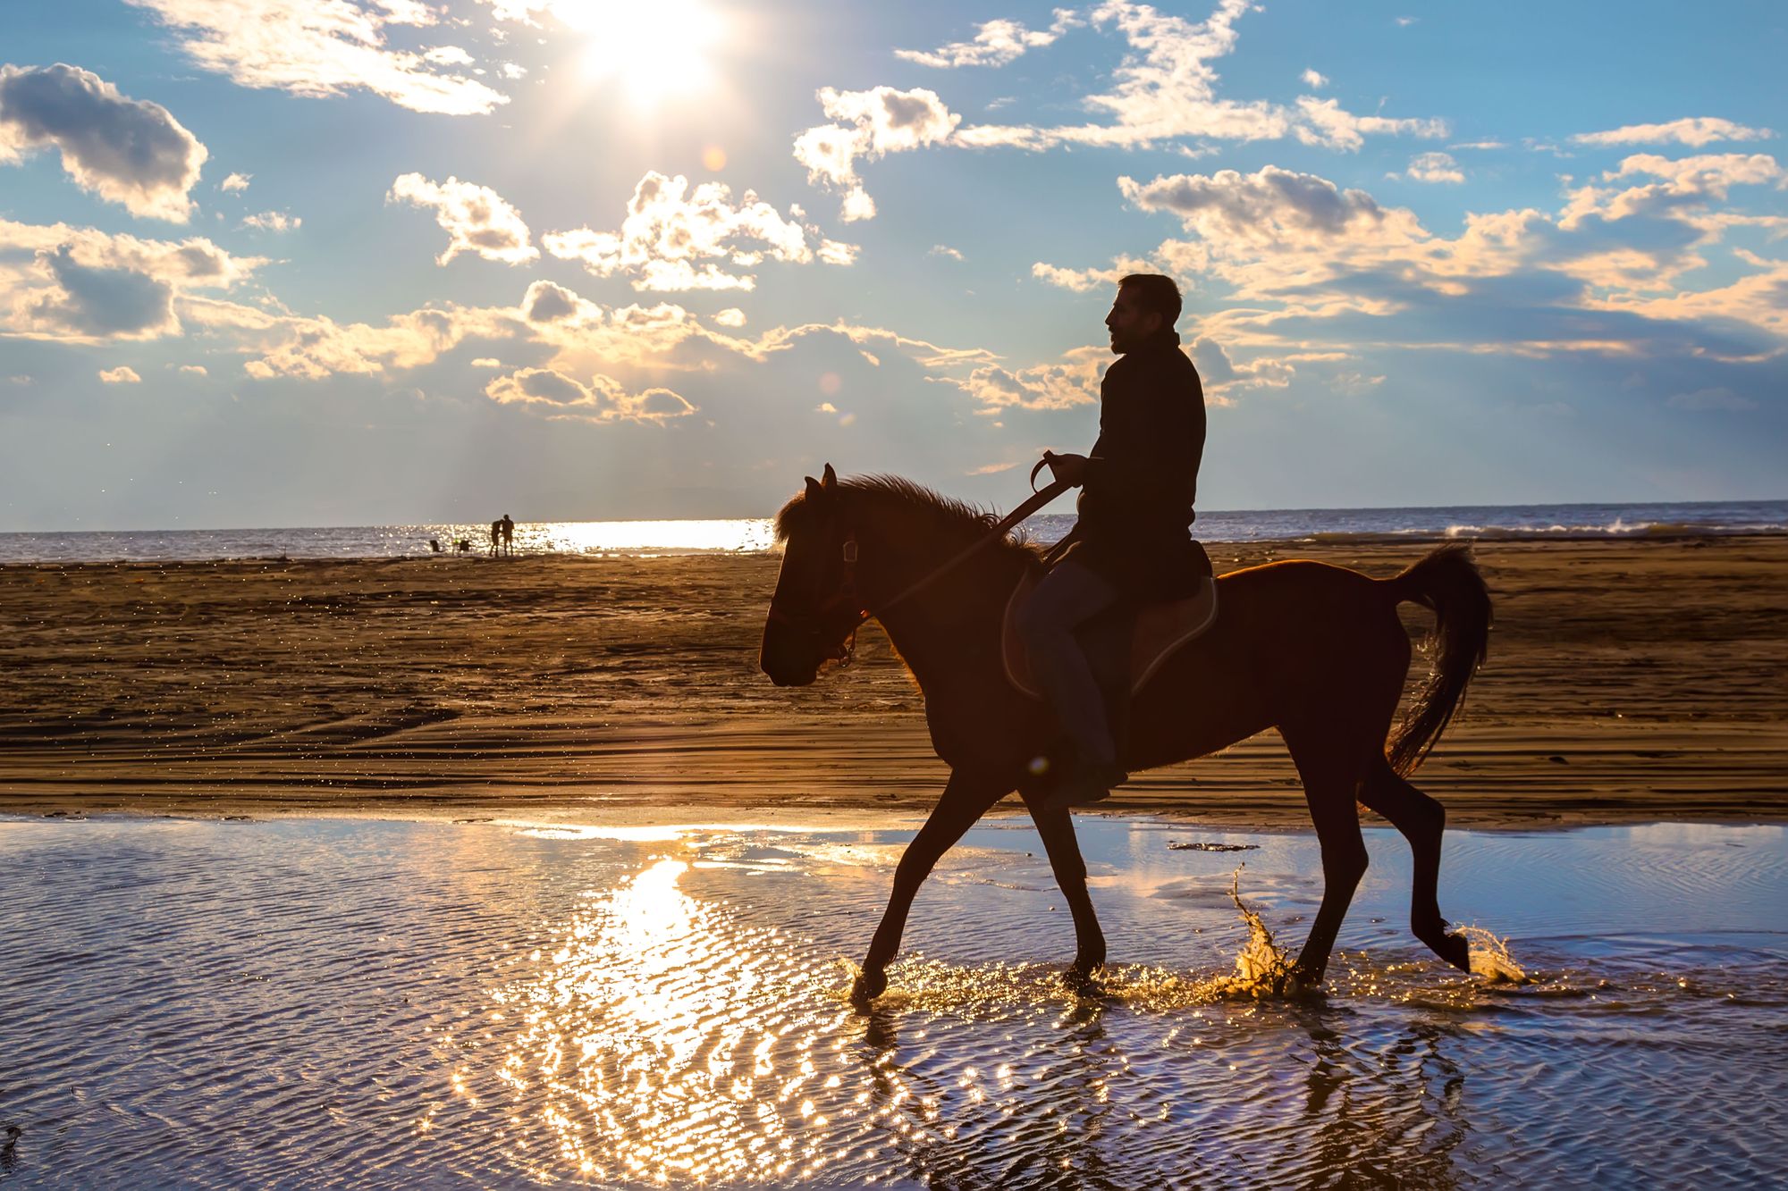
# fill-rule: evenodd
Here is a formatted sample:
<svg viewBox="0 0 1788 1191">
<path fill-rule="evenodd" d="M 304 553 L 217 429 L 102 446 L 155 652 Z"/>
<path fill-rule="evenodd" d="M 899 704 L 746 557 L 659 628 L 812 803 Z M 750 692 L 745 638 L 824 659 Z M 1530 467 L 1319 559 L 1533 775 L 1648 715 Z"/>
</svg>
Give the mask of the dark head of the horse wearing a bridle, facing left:
<svg viewBox="0 0 1788 1191">
<path fill-rule="evenodd" d="M 826 662 L 849 658 L 849 640 L 864 622 L 856 594 L 856 536 L 844 517 L 839 476 L 822 479 L 776 517 L 783 542 L 781 574 L 763 624 L 758 665 L 778 687 L 806 687 Z"/>
</svg>

